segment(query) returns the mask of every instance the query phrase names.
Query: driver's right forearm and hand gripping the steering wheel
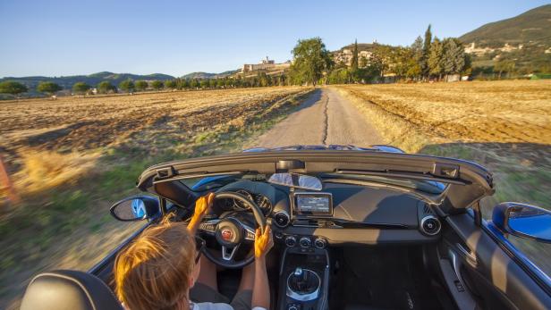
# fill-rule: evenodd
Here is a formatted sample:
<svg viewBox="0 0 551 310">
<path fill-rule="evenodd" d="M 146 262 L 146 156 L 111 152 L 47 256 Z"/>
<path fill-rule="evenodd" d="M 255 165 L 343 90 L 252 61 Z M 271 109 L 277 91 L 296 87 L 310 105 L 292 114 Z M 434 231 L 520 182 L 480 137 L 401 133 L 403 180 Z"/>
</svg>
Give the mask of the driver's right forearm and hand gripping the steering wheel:
<svg viewBox="0 0 551 310">
<path fill-rule="evenodd" d="M 270 286 L 267 281 L 266 270 L 266 255 L 267 252 L 274 246 L 272 239 L 272 230 L 266 226 L 264 233 L 257 229 L 254 241 L 255 255 L 255 272 L 254 272 L 254 288 L 252 289 L 252 301 L 250 306 L 270 308 Z"/>
</svg>

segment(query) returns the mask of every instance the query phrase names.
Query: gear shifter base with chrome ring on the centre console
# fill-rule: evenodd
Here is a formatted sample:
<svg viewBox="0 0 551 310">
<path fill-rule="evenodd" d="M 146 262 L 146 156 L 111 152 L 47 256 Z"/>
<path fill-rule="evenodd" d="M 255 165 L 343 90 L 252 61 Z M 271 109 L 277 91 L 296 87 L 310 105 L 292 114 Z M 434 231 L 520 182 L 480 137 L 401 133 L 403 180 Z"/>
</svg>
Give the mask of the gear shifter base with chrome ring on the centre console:
<svg viewBox="0 0 551 310">
<path fill-rule="evenodd" d="M 317 272 L 301 267 L 287 277 L 287 297 L 298 301 L 309 301 L 319 297 L 321 279 Z"/>
</svg>

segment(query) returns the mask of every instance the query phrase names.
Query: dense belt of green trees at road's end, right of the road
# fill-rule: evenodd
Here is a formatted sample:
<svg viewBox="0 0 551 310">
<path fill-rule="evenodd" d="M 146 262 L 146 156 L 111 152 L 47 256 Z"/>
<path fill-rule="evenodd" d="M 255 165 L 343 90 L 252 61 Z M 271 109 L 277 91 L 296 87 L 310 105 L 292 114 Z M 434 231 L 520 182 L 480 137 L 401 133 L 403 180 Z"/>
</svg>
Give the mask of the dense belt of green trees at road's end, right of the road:
<svg viewBox="0 0 551 310">
<path fill-rule="evenodd" d="M 411 46 L 374 43 L 369 58 L 359 57 L 358 42 L 350 63 L 335 63 L 321 38 L 299 40 L 293 48 L 290 70 L 292 84 L 370 83 L 394 80 L 443 80 L 446 76 L 470 73 L 470 56 L 457 38 L 433 38 L 430 25 L 425 38 Z"/>
</svg>

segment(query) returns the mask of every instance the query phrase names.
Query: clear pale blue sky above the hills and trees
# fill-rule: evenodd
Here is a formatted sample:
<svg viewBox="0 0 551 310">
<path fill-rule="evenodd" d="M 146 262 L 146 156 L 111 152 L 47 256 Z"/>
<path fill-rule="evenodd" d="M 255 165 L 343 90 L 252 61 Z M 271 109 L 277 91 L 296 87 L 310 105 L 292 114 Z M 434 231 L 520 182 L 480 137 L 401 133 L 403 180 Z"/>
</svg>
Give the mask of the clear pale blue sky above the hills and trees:
<svg viewBox="0 0 551 310">
<path fill-rule="evenodd" d="M 0 77 L 219 72 L 284 62 L 299 38 L 409 45 L 428 23 L 459 37 L 548 1 L 0 0 Z"/>
</svg>

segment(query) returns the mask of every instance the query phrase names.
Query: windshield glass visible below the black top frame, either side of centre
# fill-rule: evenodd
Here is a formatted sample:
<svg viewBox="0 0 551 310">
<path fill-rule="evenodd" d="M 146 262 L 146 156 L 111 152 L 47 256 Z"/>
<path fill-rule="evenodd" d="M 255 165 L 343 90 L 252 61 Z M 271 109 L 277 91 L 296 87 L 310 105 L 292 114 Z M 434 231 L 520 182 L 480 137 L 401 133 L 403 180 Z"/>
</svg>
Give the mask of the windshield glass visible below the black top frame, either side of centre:
<svg viewBox="0 0 551 310">
<path fill-rule="evenodd" d="M 357 181 L 357 182 L 372 182 L 381 185 L 392 185 L 395 187 L 415 189 L 428 194 L 442 194 L 446 185 L 441 182 L 432 180 L 412 180 L 412 179 L 397 179 L 384 176 L 375 176 L 367 174 L 343 174 L 343 173 L 321 173 L 315 175 L 323 182 L 339 183 Z M 216 175 L 209 177 L 197 177 L 191 179 L 180 180 L 183 185 L 189 189 L 202 192 L 210 189 L 221 188 L 236 180 L 259 180 L 266 181 L 270 175 L 266 174 L 233 174 L 233 175 Z"/>
</svg>

